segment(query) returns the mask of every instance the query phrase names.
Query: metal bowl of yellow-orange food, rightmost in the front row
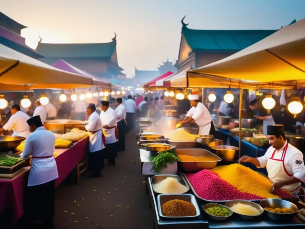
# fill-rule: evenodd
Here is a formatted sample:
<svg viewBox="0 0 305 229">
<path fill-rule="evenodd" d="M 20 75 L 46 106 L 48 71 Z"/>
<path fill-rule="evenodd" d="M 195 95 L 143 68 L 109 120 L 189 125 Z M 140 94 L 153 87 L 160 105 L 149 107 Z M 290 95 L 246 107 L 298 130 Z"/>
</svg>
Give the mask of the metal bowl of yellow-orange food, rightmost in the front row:
<svg viewBox="0 0 305 229">
<path fill-rule="evenodd" d="M 283 214 L 283 213 L 275 213 L 275 212 L 270 212 L 265 210 L 267 213 L 267 216 L 271 220 L 276 220 L 276 221 L 291 221 L 293 217 L 296 215 L 296 212 L 298 211 L 298 207 L 287 201 L 287 200 L 282 200 L 282 199 L 276 199 L 276 198 L 270 198 L 270 199 L 264 199 L 260 202 L 260 206 L 264 208 L 290 208 L 293 210 L 293 213 L 288 213 L 288 214 Z"/>
</svg>

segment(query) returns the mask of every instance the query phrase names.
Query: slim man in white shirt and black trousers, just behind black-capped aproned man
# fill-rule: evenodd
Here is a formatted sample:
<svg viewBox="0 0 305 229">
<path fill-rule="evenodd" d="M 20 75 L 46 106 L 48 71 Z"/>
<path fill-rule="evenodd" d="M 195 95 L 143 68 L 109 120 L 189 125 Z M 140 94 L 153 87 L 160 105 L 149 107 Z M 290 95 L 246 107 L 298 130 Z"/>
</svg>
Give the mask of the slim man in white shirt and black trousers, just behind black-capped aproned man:
<svg viewBox="0 0 305 229">
<path fill-rule="evenodd" d="M 119 142 L 118 142 L 118 151 L 125 150 L 125 136 L 126 136 L 126 108 L 122 104 L 122 98 L 117 98 L 115 100 L 115 113 L 117 115 L 117 130 L 119 132 Z"/>
</svg>

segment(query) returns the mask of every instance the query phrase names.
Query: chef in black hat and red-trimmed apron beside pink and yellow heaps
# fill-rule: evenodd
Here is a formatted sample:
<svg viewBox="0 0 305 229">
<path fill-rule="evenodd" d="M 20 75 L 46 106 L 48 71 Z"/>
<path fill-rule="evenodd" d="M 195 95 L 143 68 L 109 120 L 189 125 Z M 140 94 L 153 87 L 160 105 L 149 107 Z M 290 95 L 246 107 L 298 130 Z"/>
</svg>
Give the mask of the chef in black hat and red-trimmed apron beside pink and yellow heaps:
<svg viewBox="0 0 305 229">
<path fill-rule="evenodd" d="M 287 142 L 283 125 L 269 125 L 267 137 L 271 147 L 264 156 L 242 156 L 239 161 L 266 168 L 275 189 L 288 190 L 296 197 L 303 194 L 301 183 L 305 182 L 305 166 L 302 152 Z"/>
</svg>

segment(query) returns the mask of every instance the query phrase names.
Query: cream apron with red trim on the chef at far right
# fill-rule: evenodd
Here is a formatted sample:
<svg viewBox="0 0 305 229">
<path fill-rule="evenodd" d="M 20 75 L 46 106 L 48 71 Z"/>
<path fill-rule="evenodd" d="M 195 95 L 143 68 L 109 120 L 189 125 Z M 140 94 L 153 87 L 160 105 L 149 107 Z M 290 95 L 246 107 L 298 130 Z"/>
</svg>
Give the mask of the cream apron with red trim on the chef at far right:
<svg viewBox="0 0 305 229">
<path fill-rule="evenodd" d="M 269 158 L 267 161 L 266 169 L 268 172 L 268 177 L 273 183 L 282 181 L 282 180 L 287 180 L 289 177 L 293 176 L 292 174 L 289 174 L 287 172 L 287 170 L 285 168 L 285 164 L 284 164 L 287 148 L 288 148 L 288 143 L 282 152 L 281 159 L 274 158 L 274 154 L 277 151 L 277 150 L 274 150 L 271 158 Z M 302 187 L 301 187 L 301 183 L 296 183 L 296 184 L 285 185 L 282 188 L 290 191 L 293 195 L 295 195 L 295 194 L 299 193 L 299 191 Z"/>
</svg>

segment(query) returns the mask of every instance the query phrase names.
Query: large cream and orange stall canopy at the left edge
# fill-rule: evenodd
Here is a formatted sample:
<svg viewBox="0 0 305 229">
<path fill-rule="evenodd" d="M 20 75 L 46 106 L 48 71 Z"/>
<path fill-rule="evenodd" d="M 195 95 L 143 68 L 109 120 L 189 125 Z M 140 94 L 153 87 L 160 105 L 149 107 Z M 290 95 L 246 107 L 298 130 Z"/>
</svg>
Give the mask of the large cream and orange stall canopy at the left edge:
<svg viewBox="0 0 305 229">
<path fill-rule="evenodd" d="M 70 89 L 91 87 L 92 78 L 59 70 L 0 44 L 0 83 Z"/>
</svg>

